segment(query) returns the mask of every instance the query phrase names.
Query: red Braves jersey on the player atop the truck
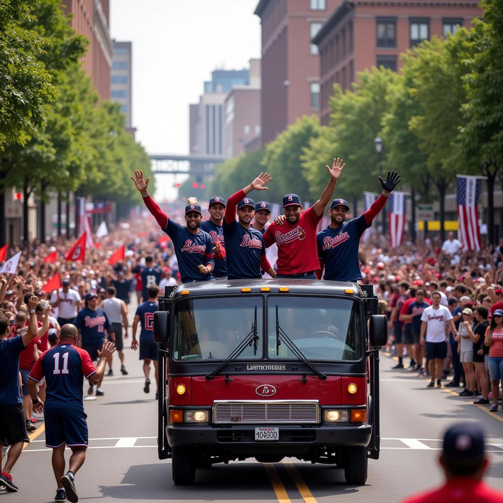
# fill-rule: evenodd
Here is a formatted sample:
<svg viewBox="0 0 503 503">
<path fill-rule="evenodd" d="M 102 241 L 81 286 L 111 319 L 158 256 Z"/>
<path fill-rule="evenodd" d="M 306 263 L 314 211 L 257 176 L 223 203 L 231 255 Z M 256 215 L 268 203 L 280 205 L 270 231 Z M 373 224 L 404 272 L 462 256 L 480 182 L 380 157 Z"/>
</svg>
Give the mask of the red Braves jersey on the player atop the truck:
<svg viewBox="0 0 503 503">
<path fill-rule="evenodd" d="M 285 222 L 278 225 L 271 223 L 264 234 L 266 246 L 276 242 L 278 274 L 299 274 L 319 269 L 316 257 L 316 227 L 321 220 L 311 206 L 300 213 L 294 224 Z"/>
</svg>

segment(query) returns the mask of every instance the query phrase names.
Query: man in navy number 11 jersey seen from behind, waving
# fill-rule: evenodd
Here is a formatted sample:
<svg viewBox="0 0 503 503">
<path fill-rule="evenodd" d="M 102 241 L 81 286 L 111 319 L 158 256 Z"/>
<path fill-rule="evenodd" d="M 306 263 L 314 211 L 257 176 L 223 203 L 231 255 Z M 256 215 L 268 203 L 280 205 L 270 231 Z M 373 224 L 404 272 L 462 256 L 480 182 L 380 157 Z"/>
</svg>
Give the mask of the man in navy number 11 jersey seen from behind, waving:
<svg viewBox="0 0 503 503">
<path fill-rule="evenodd" d="M 98 352 L 100 361 L 93 365 L 89 354 L 77 348 L 78 332 L 67 323 L 59 332 L 60 343 L 37 360 L 30 373 L 28 388 L 34 410 L 44 410 L 45 446 L 52 449 L 52 469 L 56 478 L 55 501 L 72 503 L 78 500 L 74 477 L 86 459 L 88 425 L 82 405 L 83 378 L 98 384 L 103 378 L 108 359 L 115 344 L 107 342 Z M 45 403 L 38 397 L 37 383 L 45 377 L 47 383 Z M 64 450 L 71 449 L 69 469 L 65 473 Z"/>
</svg>

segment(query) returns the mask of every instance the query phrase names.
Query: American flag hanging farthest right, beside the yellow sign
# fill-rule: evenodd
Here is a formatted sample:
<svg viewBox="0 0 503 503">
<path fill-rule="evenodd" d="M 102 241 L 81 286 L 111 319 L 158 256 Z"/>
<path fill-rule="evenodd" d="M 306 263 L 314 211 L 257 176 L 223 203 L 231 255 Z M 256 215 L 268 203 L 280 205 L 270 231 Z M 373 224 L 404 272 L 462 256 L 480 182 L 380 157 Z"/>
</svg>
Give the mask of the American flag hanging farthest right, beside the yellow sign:
<svg viewBox="0 0 503 503">
<path fill-rule="evenodd" d="M 456 176 L 458 182 L 458 229 L 465 250 L 480 249 L 480 226 L 478 224 L 478 197 L 482 179 Z"/>
</svg>

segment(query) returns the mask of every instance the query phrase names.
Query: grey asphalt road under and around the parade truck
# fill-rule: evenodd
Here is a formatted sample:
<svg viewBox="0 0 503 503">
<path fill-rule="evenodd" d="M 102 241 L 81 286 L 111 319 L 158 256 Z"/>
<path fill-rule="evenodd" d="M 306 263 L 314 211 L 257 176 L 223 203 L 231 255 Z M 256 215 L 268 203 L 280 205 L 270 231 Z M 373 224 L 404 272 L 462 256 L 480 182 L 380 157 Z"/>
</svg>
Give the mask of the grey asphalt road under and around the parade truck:
<svg viewBox="0 0 503 503">
<path fill-rule="evenodd" d="M 391 370 L 395 362 L 385 355 L 381 457 L 369 460 L 364 486 L 346 484 L 341 469 L 286 458 L 274 464 L 254 460 L 217 464 L 198 470 L 193 486 L 175 486 L 170 460 L 157 459 L 155 385 L 149 394 L 143 392 L 141 362 L 129 342 L 126 345 L 129 375 L 120 374 L 115 357 L 115 376 L 104 379 L 105 396 L 85 401 L 90 447 L 75 479 L 79 501 L 333 503 L 338 496 L 345 503 L 400 501 L 442 482 L 437 459 L 443 432 L 460 420 L 484 425 L 490 456 L 486 481 L 503 490 L 503 414 L 473 405 L 448 388 L 427 389 L 428 381 L 415 373 Z M 13 471 L 19 493 L 0 492 L 0 503 L 53 501 L 51 452 L 45 448 L 43 422 L 37 425 Z"/>
</svg>

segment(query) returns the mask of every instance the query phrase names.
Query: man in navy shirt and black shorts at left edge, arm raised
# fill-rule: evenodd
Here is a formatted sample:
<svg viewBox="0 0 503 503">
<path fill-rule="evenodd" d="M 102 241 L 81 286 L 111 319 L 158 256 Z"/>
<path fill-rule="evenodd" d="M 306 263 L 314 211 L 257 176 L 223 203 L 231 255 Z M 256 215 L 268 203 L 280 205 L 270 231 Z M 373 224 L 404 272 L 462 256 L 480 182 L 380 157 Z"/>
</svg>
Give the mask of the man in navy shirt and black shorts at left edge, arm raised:
<svg viewBox="0 0 503 503">
<path fill-rule="evenodd" d="M 12 481 L 11 470 L 21 455 L 24 443 L 30 442 L 26 435 L 23 399 L 19 393 L 19 355 L 37 337 L 37 302 L 38 297 L 30 297 L 30 324 L 21 336 L 10 337 L 11 323 L 7 316 L 0 312 L 0 453 L 3 453 L 4 446 L 11 446 L 3 467 L 3 455 L 0 458 L 0 485 L 6 487 L 9 492 L 18 490 Z"/>
</svg>

